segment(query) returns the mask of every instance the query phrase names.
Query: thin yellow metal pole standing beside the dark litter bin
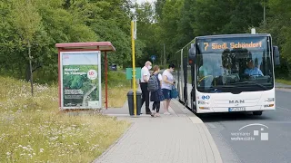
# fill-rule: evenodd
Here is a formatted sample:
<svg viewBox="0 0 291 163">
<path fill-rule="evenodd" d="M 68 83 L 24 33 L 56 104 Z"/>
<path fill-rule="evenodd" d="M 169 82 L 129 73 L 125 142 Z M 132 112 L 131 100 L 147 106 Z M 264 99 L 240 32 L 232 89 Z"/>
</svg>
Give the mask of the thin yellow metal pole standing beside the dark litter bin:
<svg viewBox="0 0 291 163">
<path fill-rule="evenodd" d="M 136 82 L 135 82 L 135 23 L 131 21 L 131 41 L 132 41 L 132 51 L 133 51 L 133 87 L 134 87 L 134 109 L 135 109 L 135 116 L 136 116 Z"/>
</svg>

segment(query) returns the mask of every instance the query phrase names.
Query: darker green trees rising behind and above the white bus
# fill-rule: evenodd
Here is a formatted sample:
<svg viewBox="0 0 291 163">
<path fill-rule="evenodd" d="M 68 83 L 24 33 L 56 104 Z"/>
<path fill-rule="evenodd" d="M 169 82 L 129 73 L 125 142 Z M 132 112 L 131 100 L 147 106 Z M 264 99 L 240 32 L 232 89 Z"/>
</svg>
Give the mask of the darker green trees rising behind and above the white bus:
<svg viewBox="0 0 291 163">
<path fill-rule="evenodd" d="M 156 0 L 155 5 L 156 24 L 146 28 L 155 26 L 152 35 L 157 43 L 166 43 L 168 62 L 175 61 L 175 53 L 198 35 L 249 34 L 250 28 L 256 27 L 259 33 L 272 34 L 273 43 L 279 46 L 282 60 L 276 67 L 276 74 L 290 74 L 291 5 L 288 0 Z M 153 44 L 146 42 L 147 52 Z M 161 55 L 163 51 L 155 53 Z"/>
</svg>

